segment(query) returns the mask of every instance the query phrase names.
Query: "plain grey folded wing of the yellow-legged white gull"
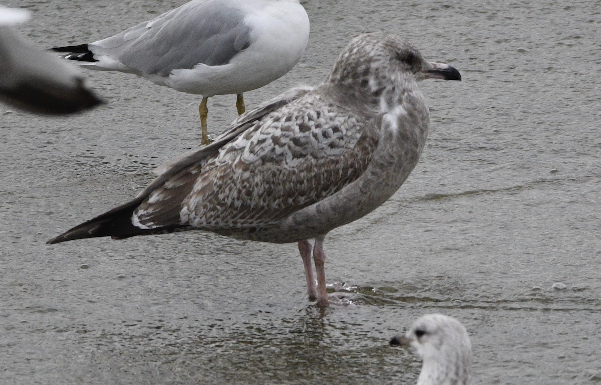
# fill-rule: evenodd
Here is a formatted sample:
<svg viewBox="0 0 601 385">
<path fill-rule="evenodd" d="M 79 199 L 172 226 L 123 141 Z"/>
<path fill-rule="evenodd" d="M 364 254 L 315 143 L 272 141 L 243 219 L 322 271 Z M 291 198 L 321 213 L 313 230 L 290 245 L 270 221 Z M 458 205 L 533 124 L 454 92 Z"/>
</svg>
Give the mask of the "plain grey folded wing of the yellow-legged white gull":
<svg viewBox="0 0 601 385">
<path fill-rule="evenodd" d="M 210 0 L 186 3 L 91 46 L 134 71 L 166 76 L 198 63 L 227 64 L 249 44 L 241 11 Z"/>
</svg>

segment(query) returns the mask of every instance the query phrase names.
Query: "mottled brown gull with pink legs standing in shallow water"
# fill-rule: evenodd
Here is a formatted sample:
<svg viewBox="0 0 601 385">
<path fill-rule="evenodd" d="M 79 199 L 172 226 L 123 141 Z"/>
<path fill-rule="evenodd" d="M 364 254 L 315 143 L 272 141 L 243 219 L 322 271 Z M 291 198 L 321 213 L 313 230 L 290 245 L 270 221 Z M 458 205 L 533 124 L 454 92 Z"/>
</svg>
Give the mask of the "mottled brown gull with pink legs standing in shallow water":
<svg viewBox="0 0 601 385">
<path fill-rule="evenodd" d="M 49 243 L 192 229 L 298 242 L 307 294 L 328 306 L 323 239 L 386 201 L 415 167 L 429 125 L 416 80 L 426 78 L 461 76 L 394 35 L 359 35 L 325 82 L 246 112 L 215 142 L 165 166 L 132 201 Z"/>
</svg>

